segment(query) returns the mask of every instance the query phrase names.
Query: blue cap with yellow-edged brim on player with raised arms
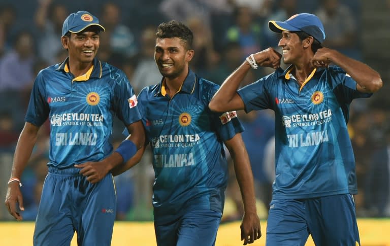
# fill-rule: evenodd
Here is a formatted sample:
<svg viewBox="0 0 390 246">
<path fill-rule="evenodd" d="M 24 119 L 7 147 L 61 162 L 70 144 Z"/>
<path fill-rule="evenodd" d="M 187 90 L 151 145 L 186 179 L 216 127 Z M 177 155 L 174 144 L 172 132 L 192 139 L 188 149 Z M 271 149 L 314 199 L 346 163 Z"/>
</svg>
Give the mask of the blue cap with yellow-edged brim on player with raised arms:
<svg viewBox="0 0 390 246">
<path fill-rule="evenodd" d="M 319 43 L 322 43 L 326 37 L 322 22 L 317 16 L 308 13 L 293 15 L 285 21 L 270 20 L 268 27 L 274 32 L 303 31 Z"/>
</svg>

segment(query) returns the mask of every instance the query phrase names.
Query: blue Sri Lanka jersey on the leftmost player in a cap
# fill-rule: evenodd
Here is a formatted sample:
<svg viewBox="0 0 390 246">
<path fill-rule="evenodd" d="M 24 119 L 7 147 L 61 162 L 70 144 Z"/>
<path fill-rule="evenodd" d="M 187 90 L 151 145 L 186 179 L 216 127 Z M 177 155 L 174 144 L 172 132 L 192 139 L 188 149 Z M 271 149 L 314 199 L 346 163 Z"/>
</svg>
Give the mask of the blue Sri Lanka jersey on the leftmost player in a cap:
<svg viewBox="0 0 390 246">
<path fill-rule="evenodd" d="M 89 71 L 75 78 L 69 73 L 67 59 L 38 74 L 25 121 L 41 126 L 49 118 L 48 165 L 63 169 L 111 154 L 113 117 L 125 125 L 139 121 L 136 102 L 120 69 L 94 59 Z"/>
</svg>

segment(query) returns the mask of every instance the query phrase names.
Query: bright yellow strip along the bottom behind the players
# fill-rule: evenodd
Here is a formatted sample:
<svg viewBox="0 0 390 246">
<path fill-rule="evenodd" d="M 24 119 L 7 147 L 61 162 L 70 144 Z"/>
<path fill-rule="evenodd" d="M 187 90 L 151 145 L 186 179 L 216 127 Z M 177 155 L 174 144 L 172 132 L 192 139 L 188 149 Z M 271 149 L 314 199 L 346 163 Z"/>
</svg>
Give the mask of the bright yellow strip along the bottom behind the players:
<svg viewBox="0 0 390 246">
<path fill-rule="evenodd" d="M 390 246 L 390 220 L 359 219 L 359 231 L 362 246 Z M 262 238 L 250 245 L 265 245 L 266 221 L 262 221 Z M 0 223 L 0 245 L 31 246 L 34 223 L 3 222 Z M 72 246 L 77 246 L 73 238 Z M 154 246 L 154 229 L 152 222 L 115 222 L 112 246 Z M 240 241 L 240 222 L 222 224 L 218 231 L 216 246 L 242 245 Z M 307 246 L 314 246 L 311 238 Z"/>
</svg>

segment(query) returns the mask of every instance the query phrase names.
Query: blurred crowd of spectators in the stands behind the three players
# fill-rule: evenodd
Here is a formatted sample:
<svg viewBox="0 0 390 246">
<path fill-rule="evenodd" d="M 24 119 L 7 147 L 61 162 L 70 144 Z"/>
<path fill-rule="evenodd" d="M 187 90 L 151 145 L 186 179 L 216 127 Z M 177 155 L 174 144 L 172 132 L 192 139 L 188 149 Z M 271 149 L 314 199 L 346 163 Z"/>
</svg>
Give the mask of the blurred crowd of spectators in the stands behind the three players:
<svg viewBox="0 0 390 246">
<path fill-rule="evenodd" d="M 149 0 L 149 1 L 11 1 L 0 4 L 0 195 L 5 197 L 13 151 L 24 124 L 29 93 L 37 73 L 62 62 L 67 51 L 60 44 L 63 20 L 78 10 L 98 16 L 101 34 L 98 57 L 121 68 L 138 93 L 160 81 L 154 62 L 155 30 L 175 19 L 193 31 L 195 50 L 190 66 L 200 76 L 221 84 L 245 57 L 277 47 L 279 36 L 268 30 L 269 20 L 286 20 L 300 12 L 316 14 L 327 34 L 324 46 L 363 60 L 359 35 L 361 4 L 355 0 Z M 7 3 L 9 2 L 9 3 Z M 21 2 L 25 2 L 22 4 Z M 390 1 L 389 1 L 390 2 Z M 389 4 L 390 7 L 390 4 Z M 364 60 L 363 60 L 364 61 Z M 270 73 L 253 70 L 244 84 Z M 360 217 L 390 217 L 390 100 L 373 96 L 351 105 L 349 130 L 356 159 Z M 258 213 L 267 218 L 274 178 L 273 112 L 239 112 L 255 178 Z M 21 182 L 25 220 L 35 220 L 47 173 L 49 124 L 41 127 L 37 145 Z M 123 125 L 114 122 L 112 143 L 122 140 Z M 232 165 L 233 166 L 233 165 Z M 151 220 L 151 156 L 115 177 L 118 220 Z M 234 169 L 231 168 L 231 175 Z M 226 191 L 224 221 L 242 217 L 235 179 Z M 10 220 L 4 207 L 0 220 Z"/>
</svg>

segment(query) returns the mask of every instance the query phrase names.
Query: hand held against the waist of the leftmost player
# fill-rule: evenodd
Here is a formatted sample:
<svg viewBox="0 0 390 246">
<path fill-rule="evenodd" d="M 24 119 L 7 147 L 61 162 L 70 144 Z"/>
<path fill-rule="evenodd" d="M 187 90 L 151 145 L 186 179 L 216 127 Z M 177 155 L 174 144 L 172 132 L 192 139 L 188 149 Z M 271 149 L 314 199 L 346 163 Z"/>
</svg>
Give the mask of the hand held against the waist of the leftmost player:
<svg viewBox="0 0 390 246">
<path fill-rule="evenodd" d="M 107 163 L 104 163 L 103 161 L 85 162 L 76 164 L 75 167 L 80 168 L 80 174 L 82 174 L 91 184 L 98 183 L 109 172 Z"/>
</svg>

